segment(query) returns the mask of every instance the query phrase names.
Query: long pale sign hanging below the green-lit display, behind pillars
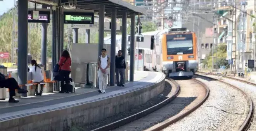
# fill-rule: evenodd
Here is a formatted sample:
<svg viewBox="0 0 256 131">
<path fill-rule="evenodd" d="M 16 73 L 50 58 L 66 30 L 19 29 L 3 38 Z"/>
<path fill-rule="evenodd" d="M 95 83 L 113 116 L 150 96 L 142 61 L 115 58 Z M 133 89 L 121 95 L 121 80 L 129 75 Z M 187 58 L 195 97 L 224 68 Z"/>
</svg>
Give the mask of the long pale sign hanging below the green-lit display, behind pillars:
<svg viewBox="0 0 256 131">
<path fill-rule="evenodd" d="M 90 29 L 90 30 L 98 30 L 99 23 L 95 22 L 94 24 L 69 24 L 67 25 L 69 28 L 79 28 L 79 29 Z M 104 23 L 104 30 L 111 30 L 111 22 Z M 120 24 L 116 24 L 116 30 L 120 30 Z"/>
</svg>

